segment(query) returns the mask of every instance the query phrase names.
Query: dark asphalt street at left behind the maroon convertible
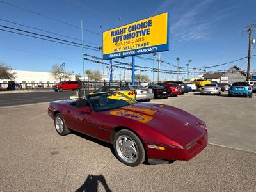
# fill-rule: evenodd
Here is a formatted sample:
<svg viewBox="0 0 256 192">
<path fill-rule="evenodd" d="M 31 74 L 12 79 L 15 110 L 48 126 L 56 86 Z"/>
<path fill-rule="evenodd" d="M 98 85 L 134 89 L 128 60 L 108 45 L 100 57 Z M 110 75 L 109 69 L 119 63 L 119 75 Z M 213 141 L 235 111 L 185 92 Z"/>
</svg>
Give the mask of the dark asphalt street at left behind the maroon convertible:
<svg viewBox="0 0 256 192">
<path fill-rule="evenodd" d="M 15 92 L 15 91 L 14 91 Z M 74 91 L 54 92 L 53 90 L 35 91 L 28 93 L 7 93 L 0 94 L 1 106 L 15 106 L 23 104 L 35 104 L 40 102 L 50 102 L 53 100 L 68 99 L 71 95 L 76 95 Z"/>
</svg>

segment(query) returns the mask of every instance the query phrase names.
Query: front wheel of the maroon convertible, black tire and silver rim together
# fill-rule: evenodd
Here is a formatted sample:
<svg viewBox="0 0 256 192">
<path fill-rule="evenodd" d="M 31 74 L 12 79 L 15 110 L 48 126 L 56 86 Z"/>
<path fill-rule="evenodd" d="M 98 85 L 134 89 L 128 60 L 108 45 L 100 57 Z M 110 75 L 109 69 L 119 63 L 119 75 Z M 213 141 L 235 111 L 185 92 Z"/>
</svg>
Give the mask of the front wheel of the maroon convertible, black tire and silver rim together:
<svg viewBox="0 0 256 192">
<path fill-rule="evenodd" d="M 138 166 L 145 161 L 143 144 L 132 131 L 127 129 L 118 131 L 113 141 L 113 147 L 116 157 L 128 166 Z"/>
</svg>

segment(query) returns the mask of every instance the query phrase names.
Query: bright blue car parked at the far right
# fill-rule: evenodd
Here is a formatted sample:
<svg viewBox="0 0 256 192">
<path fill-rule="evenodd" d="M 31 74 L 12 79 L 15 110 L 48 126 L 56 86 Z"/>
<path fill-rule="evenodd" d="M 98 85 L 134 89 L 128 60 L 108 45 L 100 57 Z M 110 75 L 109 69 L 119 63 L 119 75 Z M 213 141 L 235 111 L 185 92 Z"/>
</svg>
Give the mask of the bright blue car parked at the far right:
<svg viewBox="0 0 256 192">
<path fill-rule="evenodd" d="M 252 97 L 252 86 L 250 86 L 248 82 L 235 82 L 229 88 L 228 97 L 232 97 L 234 95 Z"/>
</svg>

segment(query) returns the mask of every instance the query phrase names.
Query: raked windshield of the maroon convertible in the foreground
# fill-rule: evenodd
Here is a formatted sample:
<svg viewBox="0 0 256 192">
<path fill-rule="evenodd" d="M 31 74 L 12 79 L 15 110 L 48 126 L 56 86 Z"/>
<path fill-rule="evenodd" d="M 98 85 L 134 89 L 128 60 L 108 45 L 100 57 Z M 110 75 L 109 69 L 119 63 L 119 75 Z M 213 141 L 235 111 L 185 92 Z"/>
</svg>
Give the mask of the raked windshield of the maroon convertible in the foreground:
<svg viewBox="0 0 256 192">
<path fill-rule="evenodd" d="M 119 92 L 97 93 L 87 95 L 95 111 L 106 111 L 137 103 Z"/>
</svg>

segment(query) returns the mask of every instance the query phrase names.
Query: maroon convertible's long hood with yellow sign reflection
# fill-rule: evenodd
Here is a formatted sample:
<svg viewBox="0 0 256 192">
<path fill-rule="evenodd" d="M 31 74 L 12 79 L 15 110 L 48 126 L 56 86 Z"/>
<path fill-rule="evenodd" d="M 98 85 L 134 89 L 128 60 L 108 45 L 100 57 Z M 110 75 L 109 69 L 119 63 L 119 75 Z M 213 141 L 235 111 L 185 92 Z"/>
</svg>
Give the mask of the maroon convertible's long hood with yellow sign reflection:
<svg viewBox="0 0 256 192">
<path fill-rule="evenodd" d="M 170 138 L 189 131 L 198 120 L 182 109 L 164 104 L 132 104 L 109 113 L 137 120 Z"/>
</svg>

